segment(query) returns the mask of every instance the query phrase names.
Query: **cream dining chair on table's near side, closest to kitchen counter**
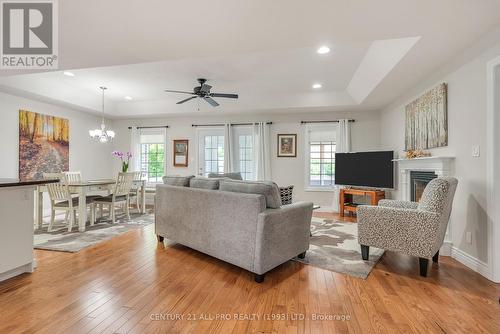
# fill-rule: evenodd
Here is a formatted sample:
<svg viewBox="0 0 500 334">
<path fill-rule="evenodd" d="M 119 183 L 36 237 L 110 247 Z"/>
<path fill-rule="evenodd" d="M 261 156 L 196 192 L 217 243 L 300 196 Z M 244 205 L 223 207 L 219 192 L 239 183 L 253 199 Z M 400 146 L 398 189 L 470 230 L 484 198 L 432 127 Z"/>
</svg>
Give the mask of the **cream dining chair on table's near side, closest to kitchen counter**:
<svg viewBox="0 0 500 334">
<path fill-rule="evenodd" d="M 65 221 L 68 224 L 68 232 L 71 232 L 73 224 L 76 224 L 76 211 L 78 210 L 78 198 L 71 196 L 68 180 L 64 173 L 44 173 L 44 179 L 59 179 L 59 182 L 48 183 L 47 191 L 50 197 L 50 223 L 48 232 L 52 231 L 55 222 L 56 210 L 66 211 Z M 92 205 L 92 200 L 86 201 L 86 205 Z M 69 218 L 69 219 L 68 219 Z M 94 224 L 95 216 L 93 210 L 90 212 L 90 223 Z"/>
</svg>

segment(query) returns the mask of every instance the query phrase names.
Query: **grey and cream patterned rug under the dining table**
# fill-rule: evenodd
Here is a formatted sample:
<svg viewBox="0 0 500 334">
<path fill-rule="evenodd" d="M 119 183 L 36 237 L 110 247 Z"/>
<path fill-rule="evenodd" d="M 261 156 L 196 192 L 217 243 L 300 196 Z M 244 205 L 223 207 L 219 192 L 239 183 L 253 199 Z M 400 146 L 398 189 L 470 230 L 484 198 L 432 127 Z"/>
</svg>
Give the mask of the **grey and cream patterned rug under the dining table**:
<svg viewBox="0 0 500 334">
<path fill-rule="evenodd" d="M 94 226 L 87 223 L 85 232 L 79 232 L 78 226 L 73 226 L 72 231 L 68 232 L 64 217 L 58 218 L 51 232 L 47 232 L 48 224 L 44 224 L 42 229 L 35 230 L 34 248 L 76 253 L 125 232 L 154 223 L 152 212 L 142 215 L 131 213 L 130 220 L 127 220 L 125 215 L 119 215 L 115 224 L 102 219 Z"/>
</svg>

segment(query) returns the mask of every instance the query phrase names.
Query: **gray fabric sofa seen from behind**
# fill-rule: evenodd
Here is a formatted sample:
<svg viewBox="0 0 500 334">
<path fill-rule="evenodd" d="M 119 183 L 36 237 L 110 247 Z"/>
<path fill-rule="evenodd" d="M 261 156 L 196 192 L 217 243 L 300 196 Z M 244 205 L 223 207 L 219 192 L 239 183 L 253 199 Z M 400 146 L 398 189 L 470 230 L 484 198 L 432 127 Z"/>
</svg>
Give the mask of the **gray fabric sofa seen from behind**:
<svg viewBox="0 0 500 334">
<path fill-rule="evenodd" d="M 203 179 L 190 179 L 197 188 L 157 186 L 155 231 L 160 242 L 168 238 L 244 268 L 259 283 L 266 272 L 305 255 L 312 203 L 271 208 L 279 200 L 272 186 L 221 179 L 221 190 L 210 190 L 213 183 Z M 204 183 L 209 189 L 203 189 Z"/>
</svg>

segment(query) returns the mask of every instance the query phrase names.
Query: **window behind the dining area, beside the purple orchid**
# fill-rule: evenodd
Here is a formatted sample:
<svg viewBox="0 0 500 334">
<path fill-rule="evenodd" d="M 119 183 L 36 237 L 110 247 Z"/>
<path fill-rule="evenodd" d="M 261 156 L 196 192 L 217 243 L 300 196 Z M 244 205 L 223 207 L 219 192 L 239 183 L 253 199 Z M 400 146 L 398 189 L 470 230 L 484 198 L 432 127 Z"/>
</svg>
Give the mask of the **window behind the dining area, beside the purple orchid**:
<svg viewBox="0 0 500 334">
<path fill-rule="evenodd" d="M 141 129 L 141 172 L 148 183 L 162 182 L 165 175 L 165 130 Z"/>
</svg>

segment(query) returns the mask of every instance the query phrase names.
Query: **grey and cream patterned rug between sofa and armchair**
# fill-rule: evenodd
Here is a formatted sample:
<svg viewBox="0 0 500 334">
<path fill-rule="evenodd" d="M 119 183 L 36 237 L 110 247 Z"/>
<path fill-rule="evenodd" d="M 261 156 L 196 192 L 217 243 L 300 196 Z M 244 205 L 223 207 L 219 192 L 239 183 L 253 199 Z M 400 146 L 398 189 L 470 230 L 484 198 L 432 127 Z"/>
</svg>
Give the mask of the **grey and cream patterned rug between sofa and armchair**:
<svg viewBox="0 0 500 334">
<path fill-rule="evenodd" d="M 370 260 L 363 261 L 356 223 L 313 217 L 311 232 L 311 243 L 306 257 L 294 260 L 366 279 L 384 254 L 382 249 L 370 247 Z"/>
</svg>

